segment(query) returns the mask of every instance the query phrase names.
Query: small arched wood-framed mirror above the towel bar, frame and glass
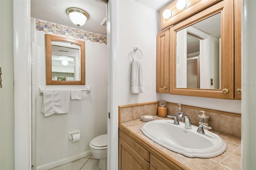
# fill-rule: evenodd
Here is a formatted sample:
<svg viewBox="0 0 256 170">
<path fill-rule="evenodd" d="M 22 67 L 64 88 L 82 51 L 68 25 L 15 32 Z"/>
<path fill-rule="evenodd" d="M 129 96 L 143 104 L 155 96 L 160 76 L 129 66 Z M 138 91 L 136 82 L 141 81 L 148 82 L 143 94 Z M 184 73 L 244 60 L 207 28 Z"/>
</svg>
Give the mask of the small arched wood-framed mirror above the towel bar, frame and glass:
<svg viewBox="0 0 256 170">
<path fill-rule="evenodd" d="M 46 34 L 46 85 L 85 85 L 85 42 Z"/>
</svg>

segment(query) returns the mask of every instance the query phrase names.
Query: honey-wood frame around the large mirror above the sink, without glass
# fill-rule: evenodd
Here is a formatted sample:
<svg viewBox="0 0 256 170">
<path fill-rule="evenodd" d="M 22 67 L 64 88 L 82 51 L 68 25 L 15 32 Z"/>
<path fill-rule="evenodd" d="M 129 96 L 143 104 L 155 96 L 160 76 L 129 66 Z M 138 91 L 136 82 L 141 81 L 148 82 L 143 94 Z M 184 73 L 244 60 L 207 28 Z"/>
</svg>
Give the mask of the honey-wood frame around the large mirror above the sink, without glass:
<svg viewBox="0 0 256 170">
<path fill-rule="evenodd" d="M 221 87 L 220 89 L 186 89 L 176 88 L 176 32 L 218 12 L 221 17 Z M 170 28 L 170 94 L 208 97 L 217 99 L 234 99 L 234 2 L 223 0 L 194 16 Z M 228 93 L 222 93 L 222 89 Z"/>
</svg>

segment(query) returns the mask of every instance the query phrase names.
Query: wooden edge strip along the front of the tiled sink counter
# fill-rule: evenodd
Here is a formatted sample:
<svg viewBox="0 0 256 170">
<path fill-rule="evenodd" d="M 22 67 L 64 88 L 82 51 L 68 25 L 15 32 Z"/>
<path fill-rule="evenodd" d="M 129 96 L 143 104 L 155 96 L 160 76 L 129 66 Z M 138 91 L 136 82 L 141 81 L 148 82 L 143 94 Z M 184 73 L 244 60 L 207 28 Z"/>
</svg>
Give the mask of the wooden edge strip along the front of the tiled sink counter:
<svg viewBox="0 0 256 170">
<path fill-rule="evenodd" d="M 170 157 L 168 154 L 166 154 L 165 152 L 163 152 L 156 146 L 150 144 L 148 141 L 144 140 L 143 138 L 141 138 L 136 133 L 132 132 L 131 130 L 129 130 L 122 124 L 119 124 L 119 132 L 121 132 L 121 133 L 119 133 L 119 134 L 121 134 L 120 138 L 123 137 L 123 134 L 129 136 L 130 138 L 132 138 L 132 140 L 134 140 L 135 142 L 140 144 L 142 147 L 144 147 L 150 153 L 157 156 L 157 158 L 159 158 L 162 162 L 164 162 L 164 164 L 166 164 L 173 170 L 187 170 L 188 169 L 186 166 L 184 166 L 183 164 L 181 164 L 174 158 Z"/>
</svg>

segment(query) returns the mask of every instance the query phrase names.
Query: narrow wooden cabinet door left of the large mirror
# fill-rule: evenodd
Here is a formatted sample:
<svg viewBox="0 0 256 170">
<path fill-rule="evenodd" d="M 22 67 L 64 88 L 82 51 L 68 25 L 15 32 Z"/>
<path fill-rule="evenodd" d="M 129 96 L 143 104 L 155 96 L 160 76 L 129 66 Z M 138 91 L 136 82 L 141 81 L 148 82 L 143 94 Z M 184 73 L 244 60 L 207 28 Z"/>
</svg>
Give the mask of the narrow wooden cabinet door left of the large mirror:
<svg viewBox="0 0 256 170">
<path fill-rule="evenodd" d="M 169 29 L 156 37 L 156 92 L 169 93 Z"/>
</svg>

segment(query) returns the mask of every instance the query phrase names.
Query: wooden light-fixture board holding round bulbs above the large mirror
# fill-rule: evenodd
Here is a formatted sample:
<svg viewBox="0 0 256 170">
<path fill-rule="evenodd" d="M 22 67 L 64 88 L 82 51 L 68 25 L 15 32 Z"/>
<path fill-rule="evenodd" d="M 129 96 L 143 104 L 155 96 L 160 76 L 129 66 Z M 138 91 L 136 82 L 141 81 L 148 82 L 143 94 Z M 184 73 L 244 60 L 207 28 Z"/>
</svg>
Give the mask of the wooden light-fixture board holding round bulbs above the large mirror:
<svg viewBox="0 0 256 170">
<path fill-rule="evenodd" d="M 161 31 L 177 24 L 178 22 L 185 20 L 186 18 L 220 2 L 221 0 L 186 0 L 187 6 L 183 10 L 178 10 L 176 8 L 176 3 L 178 0 L 175 0 L 162 10 L 160 10 L 160 18 L 161 18 Z M 172 11 L 172 16 L 168 19 L 164 19 L 162 14 L 164 10 L 170 9 Z"/>
</svg>

